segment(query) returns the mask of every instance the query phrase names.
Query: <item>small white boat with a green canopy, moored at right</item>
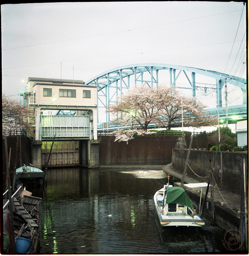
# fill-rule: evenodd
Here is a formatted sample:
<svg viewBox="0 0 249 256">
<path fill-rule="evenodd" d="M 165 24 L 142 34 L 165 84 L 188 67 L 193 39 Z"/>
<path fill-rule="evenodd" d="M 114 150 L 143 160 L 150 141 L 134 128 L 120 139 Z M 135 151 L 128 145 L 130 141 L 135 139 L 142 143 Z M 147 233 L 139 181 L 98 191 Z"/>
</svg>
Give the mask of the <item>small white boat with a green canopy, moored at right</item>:
<svg viewBox="0 0 249 256">
<path fill-rule="evenodd" d="M 201 227 L 204 220 L 193 210 L 193 204 L 181 187 L 164 185 L 154 195 L 156 212 L 162 227 Z"/>
</svg>

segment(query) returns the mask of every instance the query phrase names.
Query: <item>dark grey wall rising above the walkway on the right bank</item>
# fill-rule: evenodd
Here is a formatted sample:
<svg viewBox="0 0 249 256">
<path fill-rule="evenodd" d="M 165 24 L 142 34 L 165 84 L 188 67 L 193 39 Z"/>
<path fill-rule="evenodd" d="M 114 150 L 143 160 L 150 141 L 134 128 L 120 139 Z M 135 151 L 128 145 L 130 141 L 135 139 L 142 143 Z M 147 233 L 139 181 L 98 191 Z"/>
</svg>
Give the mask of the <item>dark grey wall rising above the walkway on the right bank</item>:
<svg viewBox="0 0 249 256">
<path fill-rule="evenodd" d="M 183 173 L 186 158 L 186 149 L 173 149 L 172 169 L 177 172 Z M 233 193 L 240 194 L 243 159 L 245 159 L 246 162 L 247 174 L 247 152 L 216 152 L 191 150 L 188 161 L 189 167 L 187 168 L 187 176 L 192 177 L 195 180 L 199 180 L 200 182 L 208 182 L 209 178 L 200 177 L 208 176 L 210 171 L 213 170 L 213 175 L 219 188 L 228 189 L 231 190 Z M 197 175 L 200 177 L 198 177 Z M 247 177 L 246 181 L 248 181 Z"/>
</svg>

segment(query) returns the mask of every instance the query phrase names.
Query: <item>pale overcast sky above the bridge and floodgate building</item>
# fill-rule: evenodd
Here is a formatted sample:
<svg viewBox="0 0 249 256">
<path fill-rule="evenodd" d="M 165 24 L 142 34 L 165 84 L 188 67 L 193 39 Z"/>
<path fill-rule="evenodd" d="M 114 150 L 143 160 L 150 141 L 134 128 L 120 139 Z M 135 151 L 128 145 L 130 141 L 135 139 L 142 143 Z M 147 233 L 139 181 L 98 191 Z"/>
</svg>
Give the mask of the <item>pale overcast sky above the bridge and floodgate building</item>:
<svg viewBox="0 0 249 256">
<path fill-rule="evenodd" d="M 2 91 L 18 98 L 29 76 L 86 82 L 136 63 L 246 78 L 246 8 L 243 2 L 3 4 Z"/>
</svg>

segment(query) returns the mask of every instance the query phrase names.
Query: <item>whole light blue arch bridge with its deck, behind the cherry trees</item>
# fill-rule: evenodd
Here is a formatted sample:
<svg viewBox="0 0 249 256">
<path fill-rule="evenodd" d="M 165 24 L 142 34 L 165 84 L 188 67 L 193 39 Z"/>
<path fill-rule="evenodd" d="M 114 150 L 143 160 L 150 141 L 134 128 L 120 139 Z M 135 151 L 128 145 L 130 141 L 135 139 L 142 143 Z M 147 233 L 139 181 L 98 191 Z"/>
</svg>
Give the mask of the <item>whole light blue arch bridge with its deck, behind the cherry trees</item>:
<svg viewBox="0 0 249 256">
<path fill-rule="evenodd" d="M 166 79 L 167 84 L 176 88 L 191 90 L 193 97 L 196 96 L 197 90 L 204 95 L 215 93 L 216 104 L 213 108 L 206 110 L 209 115 L 218 116 L 219 114 L 220 120 L 226 119 L 227 115 L 228 123 L 247 119 L 246 79 L 201 68 L 146 63 L 114 68 L 86 82 L 87 85 L 97 87 L 99 128 L 103 127 L 103 123 L 110 121 L 109 114 L 104 113 L 103 110 L 107 105 L 117 101 L 117 95 L 130 88 L 130 86 L 141 83 L 146 83 L 150 87 L 159 85 L 161 78 Z M 226 107 L 226 103 L 222 103 L 222 91 L 227 89 L 227 85 L 241 89 L 243 104 Z M 105 116 L 105 120 L 101 124 L 100 116 L 101 118 Z"/>
</svg>

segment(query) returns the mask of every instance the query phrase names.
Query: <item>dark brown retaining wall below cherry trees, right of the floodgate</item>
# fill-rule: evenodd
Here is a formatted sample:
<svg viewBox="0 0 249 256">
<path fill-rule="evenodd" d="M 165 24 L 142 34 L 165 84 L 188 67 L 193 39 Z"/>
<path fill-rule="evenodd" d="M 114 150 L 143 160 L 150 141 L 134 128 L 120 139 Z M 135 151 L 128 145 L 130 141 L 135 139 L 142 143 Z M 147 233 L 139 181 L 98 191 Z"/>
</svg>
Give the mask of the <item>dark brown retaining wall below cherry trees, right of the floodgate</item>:
<svg viewBox="0 0 249 256">
<path fill-rule="evenodd" d="M 190 138 L 139 136 L 128 144 L 114 140 L 114 136 L 100 136 L 100 166 L 166 165 L 171 163 L 172 149 L 186 148 Z M 206 148 L 207 138 L 196 137 L 192 145 Z"/>
</svg>

